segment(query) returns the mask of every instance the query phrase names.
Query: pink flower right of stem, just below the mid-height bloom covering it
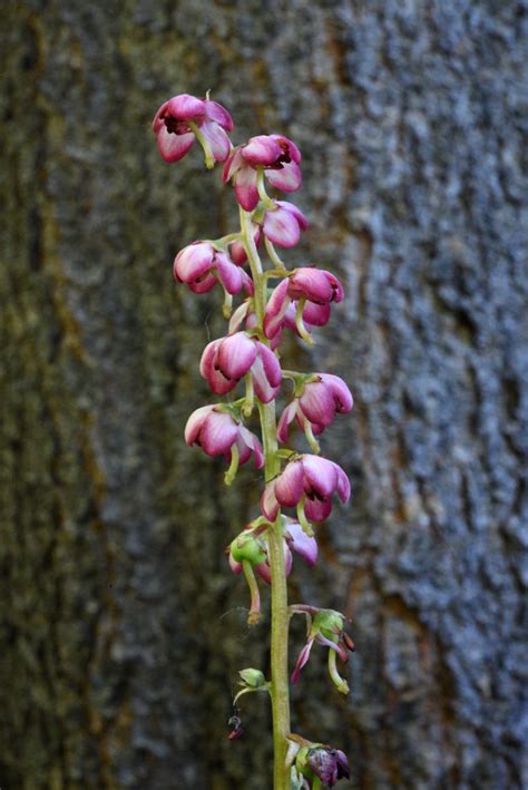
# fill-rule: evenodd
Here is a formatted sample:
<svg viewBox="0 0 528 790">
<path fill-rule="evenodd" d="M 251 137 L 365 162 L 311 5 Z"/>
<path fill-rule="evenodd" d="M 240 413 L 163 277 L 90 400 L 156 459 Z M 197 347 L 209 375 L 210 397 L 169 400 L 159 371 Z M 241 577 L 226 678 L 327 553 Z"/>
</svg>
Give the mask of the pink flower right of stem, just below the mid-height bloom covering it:
<svg viewBox="0 0 528 790">
<path fill-rule="evenodd" d="M 278 440 L 287 441 L 289 426 L 294 419 L 302 430 L 309 422 L 317 436 L 333 422 L 336 413 L 345 414 L 352 406 L 352 393 L 343 379 L 331 373 L 316 373 L 312 380 L 306 381 L 301 396 L 284 409 L 277 426 Z"/>
</svg>

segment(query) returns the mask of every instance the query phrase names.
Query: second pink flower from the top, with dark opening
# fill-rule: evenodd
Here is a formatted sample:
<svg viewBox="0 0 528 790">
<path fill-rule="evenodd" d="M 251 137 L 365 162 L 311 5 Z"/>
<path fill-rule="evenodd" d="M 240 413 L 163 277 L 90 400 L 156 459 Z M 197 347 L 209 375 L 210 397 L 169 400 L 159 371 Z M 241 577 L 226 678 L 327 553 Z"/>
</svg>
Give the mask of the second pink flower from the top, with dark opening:
<svg viewBox="0 0 528 790">
<path fill-rule="evenodd" d="M 236 199 L 246 212 L 258 204 L 257 168 L 282 192 L 295 192 L 302 183 L 301 152 L 281 135 L 258 135 L 238 146 L 224 166 L 224 184 L 233 178 Z"/>
</svg>

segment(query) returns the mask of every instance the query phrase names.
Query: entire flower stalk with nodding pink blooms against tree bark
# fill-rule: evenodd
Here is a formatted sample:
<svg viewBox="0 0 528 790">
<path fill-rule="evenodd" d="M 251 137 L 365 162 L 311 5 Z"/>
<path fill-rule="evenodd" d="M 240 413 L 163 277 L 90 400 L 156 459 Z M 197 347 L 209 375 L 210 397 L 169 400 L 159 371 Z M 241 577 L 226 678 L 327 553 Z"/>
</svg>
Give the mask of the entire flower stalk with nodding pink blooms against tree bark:
<svg viewBox="0 0 528 790">
<path fill-rule="evenodd" d="M 229 738 L 242 734 L 236 709 L 239 696 L 264 691 L 272 701 L 274 789 L 333 787 L 350 776 L 344 753 L 290 731 L 290 617 L 301 614 L 307 623 L 306 643 L 299 653 L 292 683 L 297 682 L 317 644 L 327 650 L 332 683 L 348 694 L 336 659 L 346 662 L 354 645 L 339 612 L 305 604 L 289 606 L 286 576 L 293 552 L 309 565 L 315 564 L 313 523 L 327 518 L 332 496 L 335 494 L 342 503 L 350 498 L 346 475 L 320 455 L 316 437 L 338 413 L 352 409 L 352 396 L 338 376 L 284 370 L 278 350 L 287 331 L 312 345 L 313 328 L 327 323 L 332 302 L 341 302 L 343 289 L 333 274 L 313 265 L 289 271 L 276 252 L 275 246 L 293 247 L 307 228 L 306 217 L 293 203 L 266 192 L 266 181 L 286 193 L 301 186 L 301 153 L 292 140 L 282 135 L 257 135 L 233 147 L 227 135 L 233 129 L 231 115 L 208 95 L 205 99 L 174 96 L 156 113 L 153 129 L 159 153 L 168 163 L 182 159 L 196 140 L 208 169 L 224 163 L 223 181 L 234 187 L 239 206 L 238 231 L 213 241 L 193 242 L 174 261 L 176 281 L 194 293 L 207 293 L 217 284 L 223 290 L 224 316 L 231 318 L 228 331 L 205 348 L 199 370 L 217 396 L 237 388 L 243 391 L 239 398 L 203 406 L 190 414 L 185 441 L 208 456 L 224 456 L 228 465 L 226 485 L 233 482 L 238 466 L 252 457 L 255 467 L 264 469 L 262 515 L 232 540 L 227 553 L 232 570 L 243 574 L 250 588 L 250 624 L 257 623 L 261 615 L 257 577 L 271 585 L 272 676 L 266 681 L 260 670 L 241 671 L 242 689 L 234 700 Z M 258 247 L 265 248 L 267 269 Z M 239 294 L 242 302 L 233 312 L 233 298 Z M 276 397 L 285 379 L 291 382 L 292 397 L 277 422 Z M 255 411 L 262 443 L 246 427 Z M 304 433 L 310 452 L 286 447 L 293 422 Z M 287 515 L 291 510 L 293 516 Z"/>
</svg>

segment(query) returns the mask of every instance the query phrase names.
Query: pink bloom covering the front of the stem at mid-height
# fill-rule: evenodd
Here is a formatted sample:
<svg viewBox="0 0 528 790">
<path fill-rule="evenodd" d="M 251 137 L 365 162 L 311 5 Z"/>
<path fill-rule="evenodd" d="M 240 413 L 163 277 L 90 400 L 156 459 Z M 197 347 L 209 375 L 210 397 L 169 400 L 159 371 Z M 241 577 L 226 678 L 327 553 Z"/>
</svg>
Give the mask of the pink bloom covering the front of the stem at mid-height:
<svg viewBox="0 0 528 790">
<path fill-rule="evenodd" d="M 202 354 L 199 372 L 216 394 L 231 392 L 251 373 L 255 393 L 263 403 L 275 398 L 282 380 L 281 365 L 273 351 L 245 332 L 208 343 Z"/>
</svg>

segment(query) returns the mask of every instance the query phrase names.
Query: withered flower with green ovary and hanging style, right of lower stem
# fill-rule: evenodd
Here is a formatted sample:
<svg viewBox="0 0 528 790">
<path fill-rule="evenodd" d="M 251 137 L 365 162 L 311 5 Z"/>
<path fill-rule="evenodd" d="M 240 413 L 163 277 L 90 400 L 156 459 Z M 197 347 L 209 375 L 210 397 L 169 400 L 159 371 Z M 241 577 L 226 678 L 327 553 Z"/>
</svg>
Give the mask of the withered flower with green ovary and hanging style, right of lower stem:
<svg viewBox="0 0 528 790">
<path fill-rule="evenodd" d="M 344 631 L 344 617 L 340 612 L 334 609 L 320 609 L 315 606 L 305 606 L 296 604 L 291 607 L 291 611 L 296 614 L 304 614 L 307 621 L 307 637 L 306 644 L 302 648 L 295 663 L 295 669 L 292 674 L 292 683 L 299 681 L 301 670 L 307 663 L 310 653 L 314 644 L 320 644 L 329 647 L 329 671 L 332 682 L 338 690 L 343 693 L 349 693 L 349 684 L 343 680 L 335 667 L 335 656 L 339 655 L 341 661 L 349 660 L 349 651 L 355 650 L 354 643 Z"/>
</svg>

